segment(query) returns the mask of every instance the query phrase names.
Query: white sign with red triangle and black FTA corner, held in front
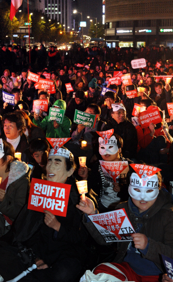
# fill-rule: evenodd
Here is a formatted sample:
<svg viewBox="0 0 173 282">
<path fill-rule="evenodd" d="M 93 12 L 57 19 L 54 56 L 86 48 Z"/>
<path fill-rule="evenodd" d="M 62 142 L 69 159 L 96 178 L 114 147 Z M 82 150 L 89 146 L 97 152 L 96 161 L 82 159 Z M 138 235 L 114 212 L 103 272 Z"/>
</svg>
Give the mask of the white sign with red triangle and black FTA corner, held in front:
<svg viewBox="0 0 173 282">
<path fill-rule="evenodd" d="M 131 234 L 135 233 L 135 230 L 125 209 L 91 214 L 88 217 L 106 242 L 132 241 Z"/>
</svg>

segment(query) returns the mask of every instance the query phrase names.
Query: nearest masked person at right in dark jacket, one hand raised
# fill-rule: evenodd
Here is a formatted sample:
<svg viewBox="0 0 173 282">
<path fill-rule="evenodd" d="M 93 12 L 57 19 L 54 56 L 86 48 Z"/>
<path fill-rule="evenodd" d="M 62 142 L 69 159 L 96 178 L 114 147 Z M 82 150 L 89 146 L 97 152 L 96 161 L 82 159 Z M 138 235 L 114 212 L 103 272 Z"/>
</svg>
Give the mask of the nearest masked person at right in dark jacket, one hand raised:
<svg viewBox="0 0 173 282">
<path fill-rule="evenodd" d="M 160 189 L 162 179 L 159 172 L 143 179 L 144 175 L 140 178 L 136 171 L 131 170 L 129 176 L 130 197 L 127 202 L 119 204 L 116 210 L 126 210 L 136 233 L 131 235 L 132 242 L 118 242 L 118 252 L 111 263 L 123 273 L 101 264 L 94 269 L 94 274 L 109 273 L 120 281 L 158 282 L 160 274 L 165 272 L 160 254 L 173 259 L 171 195 Z M 95 241 L 100 245 L 108 245 L 86 215 L 97 213 L 92 200 L 80 199 L 77 208 L 85 212 L 83 221 Z"/>
</svg>

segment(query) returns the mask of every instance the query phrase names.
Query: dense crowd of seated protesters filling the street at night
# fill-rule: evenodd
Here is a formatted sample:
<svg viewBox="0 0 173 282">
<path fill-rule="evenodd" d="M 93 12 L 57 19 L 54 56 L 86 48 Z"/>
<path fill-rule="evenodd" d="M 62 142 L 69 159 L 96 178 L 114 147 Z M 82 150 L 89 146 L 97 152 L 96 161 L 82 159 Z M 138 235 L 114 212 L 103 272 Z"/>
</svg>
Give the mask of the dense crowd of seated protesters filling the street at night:
<svg viewBox="0 0 173 282">
<path fill-rule="evenodd" d="M 132 68 L 132 48 L 123 52 L 119 46 L 112 50 L 76 46 L 61 51 L 50 46 L 47 52 L 42 44 L 31 49 L 29 64 L 25 48 L 1 46 L 0 282 L 33 263 L 37 269 L 21 281 L 78 282 L 85 270 L 102 263 L 99 245 L 106 245 L 105 256 L 111 250 L 108 260 L 114 269 L 101 264 L 94 275 L 173 282 L 164 274 L 160 258 L 163 254 L 173 259 L 173 114 L 167 108 L 173 103 L 173 51 L 142 47 L 137 57 L 145 59 L 145 67 Z M 111 84 L 116 71 L 129 74 L 132 83 Z M 29 72 L 53 81 L 54 93 L 46 86 L 35 87 Z M 138 97 L 129 98 L 132 90 Z M 4 101 L 4 92 L 14 95 L 14 105 Z M 35 100 L 47 100 L 47 111 L 33 110 Z M 161 121 L 153 119 L 143 128 L 139 111 L 132 114 L 136 104 L 145 110 L 155 108 Z M 62 123 L 49 119 L 52 108 L 64 110 Z M 76 110 L 95 115 L 94 126 L 76 123 Z M 109 138 L 103 138 L 104 132 L 111 132 Z M 47 138 L 71 138 L 61 147 L 68 154 L 52 148 Z M 18 152 L 21 161 L 15 157 Z M 86 157 L 85 166 L 79 165 L 80 157 Z M 99 160 L 126 162 L 125 181 L 110 181 Z M 148 172 L 145 166 L 159 171 L 144 181 L 132 164 L 140 166 L 143 177 Z M 66 217 L 27 209 L 32 178 L 71 185 Z M 85 200 L 76 185 L 81 180 L 87 180 Z M 132 241 L 110 246 L 88 215 L 123 208 L 136 233 L 131 234 Z"/>
</svg>

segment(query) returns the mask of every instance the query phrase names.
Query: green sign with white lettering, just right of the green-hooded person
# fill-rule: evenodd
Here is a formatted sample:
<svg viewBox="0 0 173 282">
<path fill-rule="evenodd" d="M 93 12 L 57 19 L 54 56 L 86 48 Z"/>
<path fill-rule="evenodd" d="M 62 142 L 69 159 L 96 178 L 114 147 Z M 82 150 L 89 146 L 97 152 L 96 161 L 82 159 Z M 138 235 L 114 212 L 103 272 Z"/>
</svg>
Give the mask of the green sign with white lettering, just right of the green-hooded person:
<svg viewBox="0 0 173 282">
<path fill-rule="evenodd" d="M 87 114 L 79 110 L 75 110 L 74 123 L 83 124 L 86 127 L 94 127 L 97 115 Z"/>
</svg>

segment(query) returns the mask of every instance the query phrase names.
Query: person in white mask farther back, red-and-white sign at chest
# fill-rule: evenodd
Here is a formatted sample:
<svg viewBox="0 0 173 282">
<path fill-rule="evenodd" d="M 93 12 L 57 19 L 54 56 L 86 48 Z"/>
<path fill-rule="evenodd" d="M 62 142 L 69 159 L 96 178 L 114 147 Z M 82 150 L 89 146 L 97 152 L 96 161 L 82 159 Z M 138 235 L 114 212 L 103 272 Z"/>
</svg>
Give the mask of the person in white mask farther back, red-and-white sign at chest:
<svg viewBox="0 0 173 282">
<path fill-rule="evenodd" d="M 105 161 L 127 160 L 128 163 L 133 163 L 131 160 L 122 157 L 122 147 L 123 139 L 117 134 L 113 134 L 108 143 L 99 137 L 99 153 Z M 92 189 L 96 194 L 99 212 L 110 212 L 115 209 L 120 201 L 128 200 L 128 187 L 126 187 L 126 183 L 111 183 L 107 181 L 99 162 L 94 164 L 90 175 L 88 175 L 88 168 L 86 166 L 80 166 L 78 174 L 82 177 L 82 180 L 87 180 L 88 192 Z"/>
</svg>

